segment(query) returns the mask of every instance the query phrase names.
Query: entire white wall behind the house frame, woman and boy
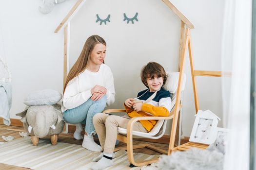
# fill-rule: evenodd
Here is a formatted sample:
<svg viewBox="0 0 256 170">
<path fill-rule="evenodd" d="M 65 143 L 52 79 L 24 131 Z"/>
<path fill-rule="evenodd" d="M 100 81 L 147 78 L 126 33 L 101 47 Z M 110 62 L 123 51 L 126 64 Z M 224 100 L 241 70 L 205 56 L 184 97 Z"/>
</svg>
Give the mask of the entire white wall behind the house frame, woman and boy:
<svg viewBox="0 0 256 170">
<path fill-rule="evenodd" d="M 53 32 L 75 2 L 67 0 L 50 14 L 42 15 L 37 9 L 41 0 L 15 0 L 15 6 L 13 1 L 0 1 L 5 54 L 13 77 L 12 118 L 19 118 L 15 114 L 25 107 L 23 98 L 31 91 L 50 88 L 61 92 L 63 30 Z M 196 69 L 220 70 L 223 0 L 172 2 L 196 26 L 191 32 Z M 138 22 L 123 21 L 123 13 L 133 17 L 136 12 Z M 101 18 L 110 14 L 110 23 L 99 25 L 96 14 Z M 105 63 L 113 71 L 117 92 L 111 108 L 120 108 L 126 98 L 145 88 L 139 72 L 147 62 L 156 61 L 166 70 L 177 70 L 179 28 L 179 19 L 161 0 L 87 0 L 71 21 L 70 63 L 74 64 L 88 36 L 102 36 L 107 42 Z M 187 60 L 184 136 L 190 135 L 195 114 L 189 71 Z M 220 78 L 199 77 L 197 85 L 200 108 L 222 117 Z"/>
</svg>

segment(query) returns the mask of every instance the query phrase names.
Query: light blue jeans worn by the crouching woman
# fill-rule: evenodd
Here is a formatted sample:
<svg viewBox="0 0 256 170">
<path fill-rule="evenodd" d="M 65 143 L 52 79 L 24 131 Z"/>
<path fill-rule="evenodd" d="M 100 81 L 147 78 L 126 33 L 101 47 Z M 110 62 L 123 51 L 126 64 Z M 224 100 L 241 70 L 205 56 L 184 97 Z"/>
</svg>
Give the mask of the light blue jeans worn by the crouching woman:
<svg viewBox="0 0 256 170">
<path fill-rule="evenodd" d="M 79 105 L 78 107 L 64 111 L 63 119 L 65 122 L 71 124 L 85 124 L 85 132 L 88 136 L 92 136 L 93 133 L 95 133 L 93 116 L 96 113 L 100 113 L 104 110 L 106 102 L 106 95 L 104 95 L 98 101 L 92 101 L 91 99 L 88 99 L 86 102 Z"/>
</svg>

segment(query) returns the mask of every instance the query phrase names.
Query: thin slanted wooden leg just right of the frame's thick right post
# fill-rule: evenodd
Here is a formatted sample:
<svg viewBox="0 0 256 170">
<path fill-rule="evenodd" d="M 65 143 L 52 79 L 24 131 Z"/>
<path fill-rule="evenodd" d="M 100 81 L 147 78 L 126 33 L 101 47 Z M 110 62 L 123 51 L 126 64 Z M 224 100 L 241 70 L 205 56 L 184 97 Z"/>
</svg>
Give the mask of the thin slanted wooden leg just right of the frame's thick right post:
<svg viewBox="0 0 256 170">
<path fill-rule="evenodd" d="M 197 111 L 199 110 L 199 102 L 198 102 L 198 95 L 197 95 L 197 81 L 196 81 L 195 72 L 194 72 L 194 67 L 195 67 L 194 66 L 194 54 L 193 54 L 193 49 L 191 46 L 191 37 L 189 37 L 189 41 L 188 41 L 188 51 L 189 51 L 192 85 L 193 85 L 194 100 L 195 100 L 195 107 L 196 107 L 196 114 L 197 114 Z"/>
</svg>

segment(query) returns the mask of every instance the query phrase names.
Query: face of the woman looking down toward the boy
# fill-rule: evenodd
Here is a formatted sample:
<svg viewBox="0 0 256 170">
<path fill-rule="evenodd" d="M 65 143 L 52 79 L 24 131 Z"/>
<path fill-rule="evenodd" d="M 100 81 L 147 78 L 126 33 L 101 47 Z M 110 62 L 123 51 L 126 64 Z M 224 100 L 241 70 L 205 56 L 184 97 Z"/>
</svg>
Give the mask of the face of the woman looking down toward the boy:
<svg viewBox="0 0 256 170">
<path fill-rule="evenodd" d="M 93 65 L 101 65 L 104 61 L 105 55 L 106 46 L 101 43 L 96 44 L 89 58 L 90 63 Z"/>
</svg>

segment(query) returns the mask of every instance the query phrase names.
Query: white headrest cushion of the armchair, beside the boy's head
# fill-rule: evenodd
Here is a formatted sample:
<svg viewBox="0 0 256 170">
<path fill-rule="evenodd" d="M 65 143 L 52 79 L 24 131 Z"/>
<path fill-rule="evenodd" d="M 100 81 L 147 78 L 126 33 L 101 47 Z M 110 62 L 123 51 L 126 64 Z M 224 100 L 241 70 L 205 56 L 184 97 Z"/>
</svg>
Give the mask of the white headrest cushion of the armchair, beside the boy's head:
<svg viewBox="0 0 256 170">
<path fill-rule="evenodd" d="M 169 91 L 170 93 L 175 93 L 178 87 L 179 72 L 166 71 L 166 74 L 168 77 L 163 88 Z M 182 81 L 182 87 L 181 87 L 182 90 L 184 89 L 185 82 L 186 82 L 186 76 L 185 74 L 183 74 L 183 81 Z"/>
</svg>

